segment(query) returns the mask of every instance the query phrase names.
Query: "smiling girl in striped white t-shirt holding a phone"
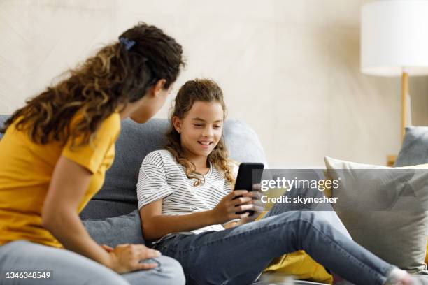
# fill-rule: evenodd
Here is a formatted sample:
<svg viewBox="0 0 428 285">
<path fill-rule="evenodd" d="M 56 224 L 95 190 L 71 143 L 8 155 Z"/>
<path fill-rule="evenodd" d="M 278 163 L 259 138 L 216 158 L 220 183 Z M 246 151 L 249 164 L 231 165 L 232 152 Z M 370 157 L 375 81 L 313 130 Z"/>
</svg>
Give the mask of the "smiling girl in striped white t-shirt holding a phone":
<svg viewBox="0 0 428 285">
<path fill-rule="evenodd" d="M 144 237 L 180 261 L 187 284 L 251 284 L 273 258 L 297 250 L 356 284 L 413 284 L 314 212 L 236 214 L 262 207 L 258 191 L 231 191 L 220 87 L 188 81 L 175 103 L 169 144 L 145 157 L 137 193 Z"/>
</svg>

